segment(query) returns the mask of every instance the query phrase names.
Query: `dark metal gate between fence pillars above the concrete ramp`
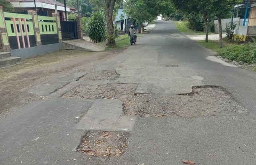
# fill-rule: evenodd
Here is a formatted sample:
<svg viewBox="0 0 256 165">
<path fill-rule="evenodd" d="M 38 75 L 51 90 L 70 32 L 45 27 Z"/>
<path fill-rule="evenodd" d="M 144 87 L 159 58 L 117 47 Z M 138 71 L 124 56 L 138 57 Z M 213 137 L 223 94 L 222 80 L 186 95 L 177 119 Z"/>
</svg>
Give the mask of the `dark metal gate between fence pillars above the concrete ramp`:
<svg viewBox="0 0 256 165">
<path fill-rule="evenodd" d="M 78 39 L 76 20 L 60 18 L 60 27 L 63 40 Z"/>
</svg>

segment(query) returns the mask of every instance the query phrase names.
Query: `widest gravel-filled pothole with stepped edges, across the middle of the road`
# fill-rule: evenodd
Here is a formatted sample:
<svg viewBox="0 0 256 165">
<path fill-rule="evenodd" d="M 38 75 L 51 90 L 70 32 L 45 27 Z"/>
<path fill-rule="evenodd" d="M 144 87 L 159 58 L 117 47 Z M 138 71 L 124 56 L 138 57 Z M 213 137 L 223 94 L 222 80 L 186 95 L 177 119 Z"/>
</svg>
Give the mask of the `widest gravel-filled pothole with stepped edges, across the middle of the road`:
<svg viewBox="0 0 256 165">
<path fill-rule="evenodd" d="M 202 117 L 243 113 L 247 110 L 236 103 L 220 87 L 194 87 L 187 95 L 137 94 L 137 84 L 111 83 L 104 85 L 80 85 L 63 97 L 75 99 L 120 99 L 124 113 L 140 117 Z"/>
</svg>

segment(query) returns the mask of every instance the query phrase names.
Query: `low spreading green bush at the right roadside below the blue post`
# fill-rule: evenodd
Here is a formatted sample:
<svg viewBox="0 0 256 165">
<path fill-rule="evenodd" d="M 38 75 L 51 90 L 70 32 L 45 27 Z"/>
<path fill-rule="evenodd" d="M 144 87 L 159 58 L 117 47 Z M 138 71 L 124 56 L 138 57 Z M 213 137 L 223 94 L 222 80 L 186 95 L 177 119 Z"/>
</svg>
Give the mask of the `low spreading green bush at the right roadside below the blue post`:
<svg viewBox="0 0 256 165">
<path fill-rule="evenodd" d="M 256 43 L 234 45 L 223 48 L 219 55 L 230 61 L 256 63 Z"/>
</svg>

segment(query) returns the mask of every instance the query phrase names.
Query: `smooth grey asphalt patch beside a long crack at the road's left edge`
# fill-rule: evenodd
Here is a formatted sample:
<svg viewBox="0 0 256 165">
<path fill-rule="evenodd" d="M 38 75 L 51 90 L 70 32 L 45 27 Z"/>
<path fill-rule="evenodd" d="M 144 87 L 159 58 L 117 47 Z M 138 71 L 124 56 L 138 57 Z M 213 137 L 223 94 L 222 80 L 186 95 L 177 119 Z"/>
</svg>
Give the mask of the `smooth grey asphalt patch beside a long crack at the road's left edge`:
<svg viewBox="0 0 256 165">
<path fill-rule="evenodd" d="M 34 85 L 29 91 L 40 96 L 47 96 L 54 91 L 61 89 L 70 82 L 77 81 L 84 76 L 84 73 L 71 74 L 68 76 L 54 76 L 47 81 Z"/>
</svg>

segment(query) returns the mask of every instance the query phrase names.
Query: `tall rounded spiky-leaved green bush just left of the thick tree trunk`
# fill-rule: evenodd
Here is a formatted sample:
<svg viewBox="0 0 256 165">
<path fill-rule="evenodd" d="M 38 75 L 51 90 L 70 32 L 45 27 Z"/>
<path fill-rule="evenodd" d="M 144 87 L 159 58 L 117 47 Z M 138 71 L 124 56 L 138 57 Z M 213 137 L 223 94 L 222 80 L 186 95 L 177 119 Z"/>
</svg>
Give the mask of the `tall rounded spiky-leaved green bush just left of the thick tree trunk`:
<svg viewBox="0 0 256 165">
<path fill-rule="evenodd" d="M 93 12 L 86 25 L 87 33 L 90 39 L 95 42 L 106 40 L 106 21 L 105 16 L 100 12 Z"/>
</svg>

